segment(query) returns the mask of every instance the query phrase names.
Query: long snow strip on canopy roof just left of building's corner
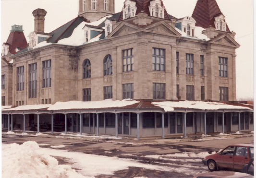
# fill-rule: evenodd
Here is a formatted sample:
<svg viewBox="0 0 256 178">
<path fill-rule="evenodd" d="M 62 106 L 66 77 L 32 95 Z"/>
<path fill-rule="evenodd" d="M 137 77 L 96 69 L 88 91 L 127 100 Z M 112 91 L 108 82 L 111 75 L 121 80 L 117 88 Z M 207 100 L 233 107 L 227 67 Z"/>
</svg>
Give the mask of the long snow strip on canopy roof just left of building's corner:
<svg viewBox="0 0 256 178">
<path fill-rule="evenodd" d="M 139 103 L 135 100 L 112 100 L 106 99 L 102 101 L 68 101 L 57 102 L 51 105 L 48 110 L 69 110 L 69 109 L 99 109 L 99 108 L 112 108 L 112 107 L 126 107 Z"/>
</svg>

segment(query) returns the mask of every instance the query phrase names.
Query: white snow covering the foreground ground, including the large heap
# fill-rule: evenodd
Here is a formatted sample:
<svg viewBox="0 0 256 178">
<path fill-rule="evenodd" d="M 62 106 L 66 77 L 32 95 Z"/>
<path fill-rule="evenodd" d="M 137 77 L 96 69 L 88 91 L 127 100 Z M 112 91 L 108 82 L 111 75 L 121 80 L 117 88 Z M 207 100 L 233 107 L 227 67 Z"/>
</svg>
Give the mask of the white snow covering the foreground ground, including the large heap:
<svg viewBox="0 0 256 178">
<path fill-rule="evenodd" d="M 202 157 L 203 155 L 197 154 L 195 156 Z M 57 159 L 52 156 L 65 157 L 70 165 L 58 165 Z M 165 156 L 171 157 L 172 154 Z M 186 153 L 183 156 L 193 157 L 192 153 Z M 118 157 L 40 148 L 37 142 L 32 141 L 24 142 L 22 145 L 16 143 L 2 144 L 2 162 L 4 163 L 2 165 L 4 178 L 94 178 L 101 174 L 112 175 L 117 170 L 128 169 L 129 166 L 191 174 L 193 168 L 198 168 L 198 166 L 193 165 L 185 164 L 180 167 L 175 163 L 163 164 L 157 161 L 155 163 L 158 165 L 150 165 Z"/>
</svg>

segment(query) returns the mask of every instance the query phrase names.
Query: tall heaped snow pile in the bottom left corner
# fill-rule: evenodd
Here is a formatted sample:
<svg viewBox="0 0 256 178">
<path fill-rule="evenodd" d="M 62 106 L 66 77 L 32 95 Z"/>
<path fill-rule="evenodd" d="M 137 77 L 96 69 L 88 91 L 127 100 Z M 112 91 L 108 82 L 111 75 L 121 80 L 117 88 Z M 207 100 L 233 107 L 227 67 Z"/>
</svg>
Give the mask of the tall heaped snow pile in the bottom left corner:
<svg viewBox="0 0 256 178">
<path fill-rule="evenodd" d="M 68 165 L 39 152 L 37 142 L 2 144 L 3 178 L 83 178 Z"/>
</svg>

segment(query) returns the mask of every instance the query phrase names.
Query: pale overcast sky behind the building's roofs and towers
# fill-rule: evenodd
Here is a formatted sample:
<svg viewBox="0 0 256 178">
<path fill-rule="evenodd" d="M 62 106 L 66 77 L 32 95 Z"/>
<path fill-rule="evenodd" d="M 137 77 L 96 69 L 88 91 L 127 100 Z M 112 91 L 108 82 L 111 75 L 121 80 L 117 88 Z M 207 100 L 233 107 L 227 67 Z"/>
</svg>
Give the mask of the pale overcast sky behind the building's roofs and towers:
<svg viewBox="0 0 256 178">
<path fill-rule="evenodd" d="M 167 12 L 177 18 L 191 16 L 197 0 L 163 0 Z M 115 0 L 115 12 L 122 10 L 124 0 Z M 237 98 L 254 96 L 253 71 L 253 0 L 217 0 L 235 40 L 241 45 L 236 50 Z M 45 32 L 49 33 L 75 18 L 78 0 L 1 0 L 1 44 L 6 42 L 11 26 L 23 25 L 24 35 L 34 31 L 32 12 L 45 9 Z"/>
</svg>

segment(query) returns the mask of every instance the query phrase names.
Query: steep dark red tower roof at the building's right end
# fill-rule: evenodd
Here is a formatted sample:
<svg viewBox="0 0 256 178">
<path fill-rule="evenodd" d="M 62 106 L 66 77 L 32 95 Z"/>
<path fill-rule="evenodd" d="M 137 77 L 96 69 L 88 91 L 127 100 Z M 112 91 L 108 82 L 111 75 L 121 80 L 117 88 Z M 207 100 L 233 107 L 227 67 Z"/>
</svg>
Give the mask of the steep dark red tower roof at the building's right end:
<svg viewBox="0 0 256 178">
<path fill-rule="evenodd" d="M 212 26 L 214 28 L 214 17 L 222 14 L 216 0 L 197 0 L 192 17 L 195 19 L 195 26 L 202 28 L 208 28 Z M 227 25 L 227 32 L 230 32 Z"/>
</svg>

